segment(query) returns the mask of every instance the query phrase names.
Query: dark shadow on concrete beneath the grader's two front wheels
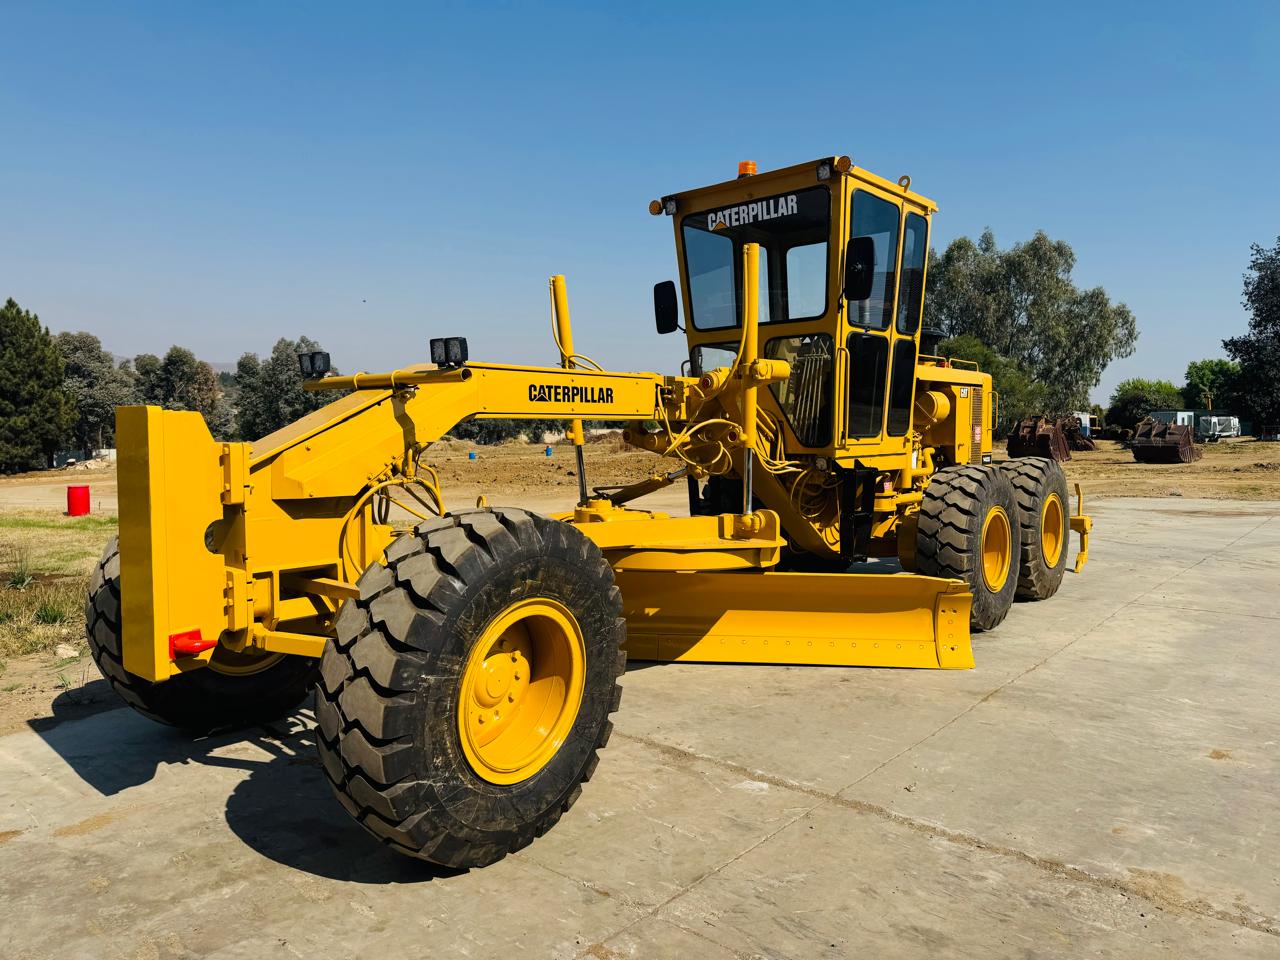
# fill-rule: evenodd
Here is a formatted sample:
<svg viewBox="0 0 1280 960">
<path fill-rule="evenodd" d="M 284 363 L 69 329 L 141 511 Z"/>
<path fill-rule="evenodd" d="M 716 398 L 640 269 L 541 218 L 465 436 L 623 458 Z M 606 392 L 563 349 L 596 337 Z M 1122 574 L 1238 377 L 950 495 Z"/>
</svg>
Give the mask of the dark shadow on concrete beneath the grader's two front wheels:
<svg viewBox="0 0 1280 960">
<path fill-rule="evenodd" d="M 60 716 L 56 701 L 54 714 Z M 198 739 L 128 708 L 87 723 L 31 727 L 104 796 L 148 783 L 164 767 L 246 771 L 227 799 L 227 826 L 248 847 L 285 867 L 353 883 L 420 883 L 457 873 L 393 852 L 343 810 L 316 756 L 310 710 L 270 727 Z"/>
</svg>

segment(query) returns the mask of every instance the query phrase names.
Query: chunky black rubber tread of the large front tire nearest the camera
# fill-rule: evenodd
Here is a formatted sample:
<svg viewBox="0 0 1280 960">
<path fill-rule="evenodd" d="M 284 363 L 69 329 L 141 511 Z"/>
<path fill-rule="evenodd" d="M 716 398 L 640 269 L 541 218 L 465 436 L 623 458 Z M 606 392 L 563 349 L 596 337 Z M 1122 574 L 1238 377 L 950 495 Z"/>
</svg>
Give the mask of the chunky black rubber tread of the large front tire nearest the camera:
<svg viewBox="0 0 1280 960">
<path fill-rule="evenodd" d="M 471 584 L 483 580 L 502 559 L 520 550 L 554 544 L 585 562 L 582 570 L 609 585 L 618 654 L 609 664 L 608 712 L 618 708 L 626 669 L 625 621 L 613 571 L 598 549 L 559 521 L 522 509 L 474 509 L 424 526 L 417 536 L 401 538 L 387 550 L 387 566 L 375 564 L 361 577 L 361 596 L 338 620 L 338 637 L 326 645 L 316 684 L 316 737 L 321 767 L 333 792 L 351 815 L 387 846 L 447 867 L 480 867 L 499 860 L 547 832 L 572 806 L 580 782 L 591 777 L 599 750 L 608 744 L 612 723 L 605 719 L 591 745 L 579 782 L 562 800 L 532 822 L 512 822 L 495 837 L 458 823 L 442 806 L 439 785 L 412 777 L 413 730 L 422 707 L 419 685 L 434 682 L 431 654 L 417 643 L 419 618 L 443 622 L 451 604 Z M 401 543 L 411 541 L 411 543 Z M 365 581 L 376 588 L 369 595 Z M 358 631 L 358 632 L 356 632 Z M 353 635 L 355 634 L 355 635 Z M 444 687 L 442 686 L 442 690 Z M 452 691 L 443 694 L 451 695 Z M 447 799 L 447 797 L 445 797 Z M 499 804 L 500 800 L 494 800 Z"/>
</svg>

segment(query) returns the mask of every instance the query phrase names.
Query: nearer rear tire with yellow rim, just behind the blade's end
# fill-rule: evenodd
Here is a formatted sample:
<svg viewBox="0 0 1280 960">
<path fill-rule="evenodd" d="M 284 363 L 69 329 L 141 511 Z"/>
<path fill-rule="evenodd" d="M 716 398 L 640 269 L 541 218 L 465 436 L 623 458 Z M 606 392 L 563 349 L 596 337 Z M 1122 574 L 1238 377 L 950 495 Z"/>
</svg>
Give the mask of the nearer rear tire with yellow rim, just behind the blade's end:
<svg viewBox="0 0 1280 960">
<path fill-rule="evenodd" d="M 1014 602 L 1019 522 L 1014 488 L 996 467 L 945 467 L 924 488 L 915 567 L 925 576 L 968 584 L 974 630 L 996 627 Z"/>
</svg>

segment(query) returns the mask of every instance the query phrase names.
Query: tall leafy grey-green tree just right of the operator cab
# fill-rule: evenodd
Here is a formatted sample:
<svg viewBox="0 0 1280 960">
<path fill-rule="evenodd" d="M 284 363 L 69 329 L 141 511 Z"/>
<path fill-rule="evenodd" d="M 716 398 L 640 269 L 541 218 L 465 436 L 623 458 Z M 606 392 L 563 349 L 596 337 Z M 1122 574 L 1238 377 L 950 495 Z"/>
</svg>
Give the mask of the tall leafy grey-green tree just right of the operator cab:
<svg viewBox="0 0 1280 960">
<path fill-rule="evenodd" d="M 1107 364 L 1133 353 L 1138 329 L 1101 287 L 1071 283 L 1075 253 L 1038 232 L 1000 250 L 991 230 L 932 256 L 925 325 L 972 334 L 1011 360 L 1043 390 L 1048 411 L 1082 410 Z"/>
</svg>

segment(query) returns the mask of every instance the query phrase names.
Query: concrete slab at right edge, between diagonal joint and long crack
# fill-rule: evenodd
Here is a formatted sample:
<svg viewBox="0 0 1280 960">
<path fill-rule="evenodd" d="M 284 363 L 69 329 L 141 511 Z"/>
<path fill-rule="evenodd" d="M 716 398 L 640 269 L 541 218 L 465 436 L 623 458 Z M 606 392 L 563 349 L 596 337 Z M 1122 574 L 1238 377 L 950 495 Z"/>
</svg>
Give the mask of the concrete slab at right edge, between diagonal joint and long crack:
<svg viewBox="0 0 1280 960">
<path fill-rule="evenodd" d="M 1271 923 L 1280 579 L 1272 562 L 1240 584 L 1234 558 L 1274 525 L 1197 522 L 1179 536 L 1228 543 L 842 796 Z"/>
</svg>

